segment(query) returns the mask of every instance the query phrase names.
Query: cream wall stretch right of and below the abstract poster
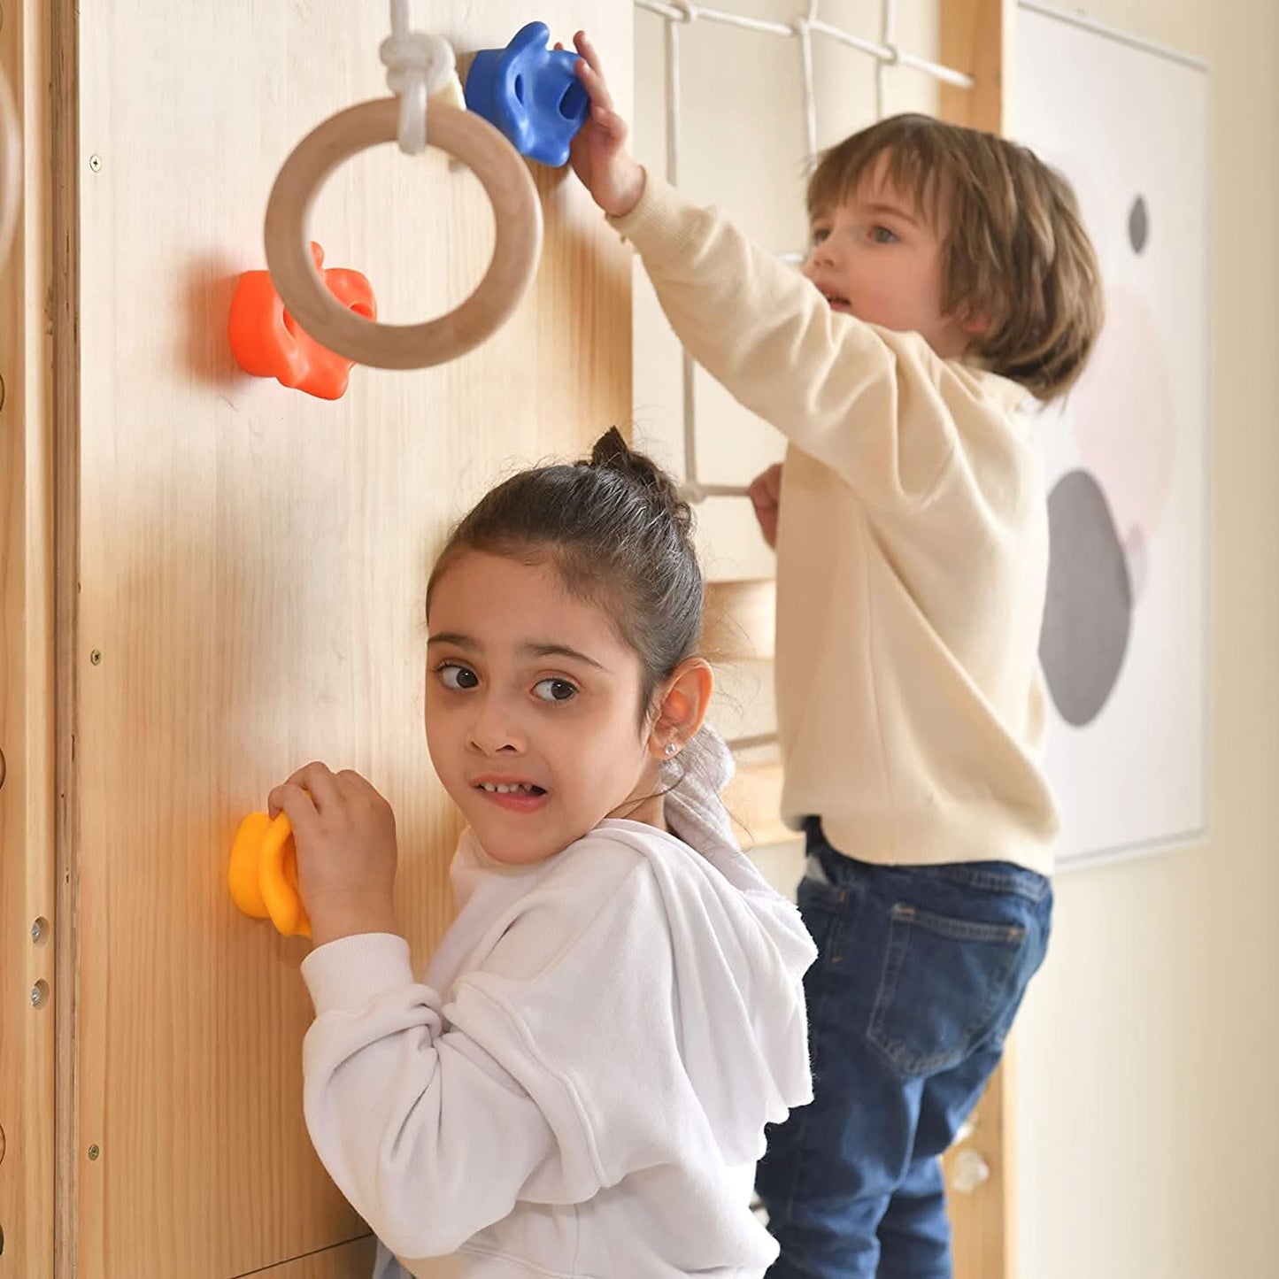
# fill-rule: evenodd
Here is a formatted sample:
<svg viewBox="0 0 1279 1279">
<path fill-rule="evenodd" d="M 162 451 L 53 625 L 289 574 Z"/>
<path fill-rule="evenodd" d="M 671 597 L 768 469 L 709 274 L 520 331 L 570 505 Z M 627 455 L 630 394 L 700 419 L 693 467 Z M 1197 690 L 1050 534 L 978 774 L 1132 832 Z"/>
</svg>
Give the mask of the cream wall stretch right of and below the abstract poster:
<svg viewBox="0 0 1279 1279">
<path fill-rule="evenodd" d="M 1019 1030 L 1026 1279 L 1279 1274 L 1279 6 L 1097 0 L 1215 83 L 1212 834 L 1058 883 Z"/>
</svg>

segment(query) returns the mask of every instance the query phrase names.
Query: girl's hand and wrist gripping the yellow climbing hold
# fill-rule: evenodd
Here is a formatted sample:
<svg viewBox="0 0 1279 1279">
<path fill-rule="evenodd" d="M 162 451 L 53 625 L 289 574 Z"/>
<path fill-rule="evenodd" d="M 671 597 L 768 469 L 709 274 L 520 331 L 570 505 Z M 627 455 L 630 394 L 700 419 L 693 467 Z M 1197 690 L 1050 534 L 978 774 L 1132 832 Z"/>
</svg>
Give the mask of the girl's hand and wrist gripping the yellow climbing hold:
<svg viewBox="0 0 1279 1279">
<path fill-rule="evenodd" d="M 395 813 L 370 783 L 308 764 L 271 792 L 267 807 L 293 826 L 313 946 L 395 931 Z"/>
</svg>

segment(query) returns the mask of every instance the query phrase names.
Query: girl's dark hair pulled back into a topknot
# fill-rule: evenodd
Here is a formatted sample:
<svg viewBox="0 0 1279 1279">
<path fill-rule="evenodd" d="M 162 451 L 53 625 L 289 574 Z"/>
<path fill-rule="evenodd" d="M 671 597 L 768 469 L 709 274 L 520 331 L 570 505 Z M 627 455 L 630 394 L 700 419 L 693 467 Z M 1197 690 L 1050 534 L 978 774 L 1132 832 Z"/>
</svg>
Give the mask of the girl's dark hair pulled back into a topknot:
<svg viewBox="0 0 1279 1279">
<path fill-rule="evenodd" d="M 435 561 L 426 608 L 467 551 L 550 560 L 565 588 L 604 608 L 638 655 L 642 719 L 657 684 L 697 650 L 702 574 L 692 533 L 675 482 L 614 426 L 590 460 L 521 471 L 486 492 Z"/>
</svg>

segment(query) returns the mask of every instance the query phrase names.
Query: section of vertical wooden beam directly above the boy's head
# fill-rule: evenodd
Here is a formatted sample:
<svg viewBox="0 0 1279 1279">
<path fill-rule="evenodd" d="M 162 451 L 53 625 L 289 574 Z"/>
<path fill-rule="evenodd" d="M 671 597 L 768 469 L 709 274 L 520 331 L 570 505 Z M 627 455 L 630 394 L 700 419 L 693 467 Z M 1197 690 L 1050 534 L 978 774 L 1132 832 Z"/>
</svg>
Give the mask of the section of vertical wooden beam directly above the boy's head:
<svg viewBox="0 0 1279 1279">
<path fill-rule="evenodd" d="M 938 114 L 952 124 L 1007 132 L 1016 0 L 941 0 L 938 10 L 938 56 L 977 82 L 971 90 L 943 84 Z"/>
</svg>

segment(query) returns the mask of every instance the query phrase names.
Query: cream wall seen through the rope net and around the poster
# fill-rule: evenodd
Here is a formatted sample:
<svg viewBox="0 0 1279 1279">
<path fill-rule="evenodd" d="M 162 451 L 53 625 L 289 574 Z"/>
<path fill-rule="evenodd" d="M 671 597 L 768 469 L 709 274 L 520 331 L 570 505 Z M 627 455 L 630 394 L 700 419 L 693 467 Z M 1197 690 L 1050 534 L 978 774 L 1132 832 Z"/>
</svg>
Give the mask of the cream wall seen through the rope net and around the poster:
<svg viewBox="0 0 1279 1279">
<path fill-rule="evenodd" d="M 798 0 L 733 0 L 787 19 Z M 877 33 L 868 4 L 822 17 Z M 1019 1030 L 1023 1279 L 1236 1279 L 1279 1253 L 1279 5 L 1096 0 L 1090 18 L 1207 59 L 1215 81 L 1212 831 L 1205 845 L 1058 881 L 1056 927 Z M 931 51 L 934 0 L 903 0 L 903 47 Z M 637 147 L 661 165 L 661 23 L 636 22 Z M 702 23 L 683 33 L 684 185 L 761 242 L 803 237 L 798 52 Z M 698 56 L 701 55 L 701 56 Z M 870 119 L 870 69 L 819 61 L 822 143 Z M 909 73 L 889 110 L 927 109 Z M 677 462 L 679 381 L 637 289 L 637 421 Z M 700 384 L 702 478 L 748 480 L 771 432 Z M 711 576 L 771 570 L 743 504 L 703 508 Z M 766 726 L 767 673 L 729 673 L 730 728 Z M 755 709 L 752 709 L 755 707 Z M 796 849 L 760 849 L 779 881 Z"/>
</svg>

